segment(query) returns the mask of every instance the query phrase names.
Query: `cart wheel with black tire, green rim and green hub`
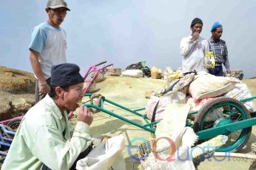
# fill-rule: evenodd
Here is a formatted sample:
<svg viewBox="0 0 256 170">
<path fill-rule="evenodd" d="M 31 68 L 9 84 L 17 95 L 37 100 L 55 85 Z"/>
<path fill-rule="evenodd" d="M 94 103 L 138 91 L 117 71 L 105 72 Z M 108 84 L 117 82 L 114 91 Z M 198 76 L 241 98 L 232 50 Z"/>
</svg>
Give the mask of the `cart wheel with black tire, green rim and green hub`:
<svg viewBox="0 0 256 170">
<path fill-rule="evenodd" d="M 208 128 L 219 127 L 222 125 L 239 122 L 251 118 L 247 108 L 238 100 L 231 98 L 213 99 L 201 107 L 198 111 L 198 117 L 195 121 L 195 132 Z M 236 130 L 224 134 L 228 136 L 228 141 L 217 151 L 236 152 L 247 144 L 250 138 L 252 127 Z"/>
</svg>

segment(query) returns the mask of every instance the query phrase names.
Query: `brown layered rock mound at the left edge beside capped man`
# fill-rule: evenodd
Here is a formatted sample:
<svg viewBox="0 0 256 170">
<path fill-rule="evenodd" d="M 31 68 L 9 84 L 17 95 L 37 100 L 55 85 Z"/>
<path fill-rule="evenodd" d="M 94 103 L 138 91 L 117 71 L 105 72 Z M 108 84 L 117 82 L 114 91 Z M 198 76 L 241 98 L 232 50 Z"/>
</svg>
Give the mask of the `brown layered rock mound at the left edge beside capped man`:
<svg viewBox="0 0 256 170">
<path fill-rule="evenodd" d="M 0 121 L 24 115 L 35 103 L 32 73 L 0 66 Z"/>
</svg>

